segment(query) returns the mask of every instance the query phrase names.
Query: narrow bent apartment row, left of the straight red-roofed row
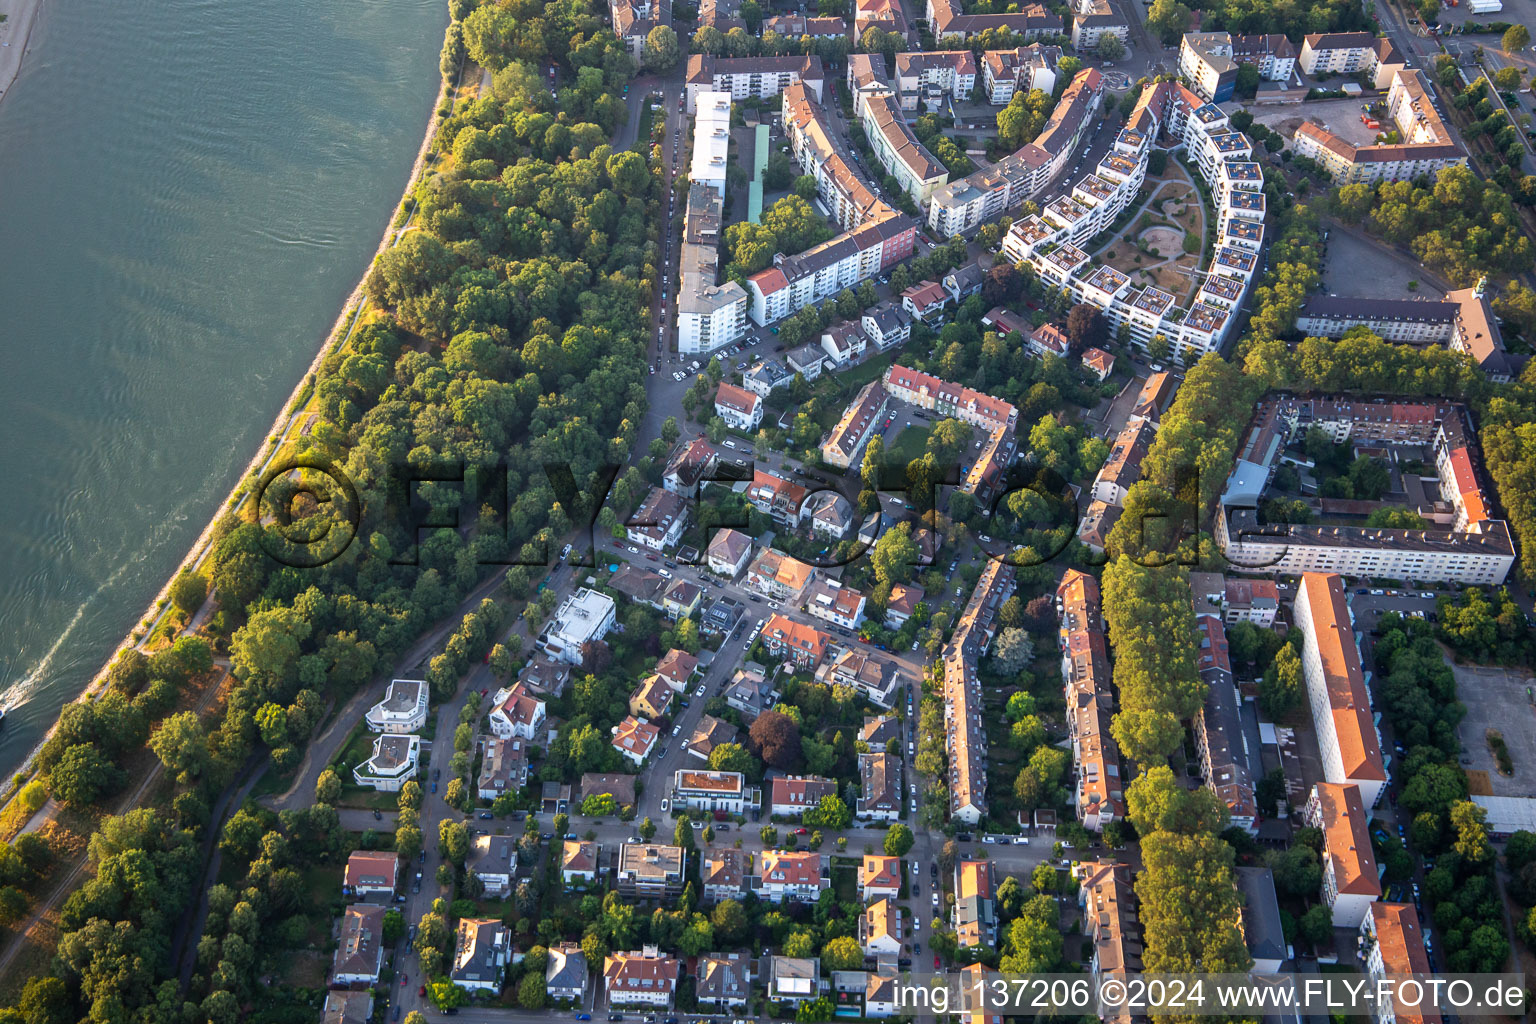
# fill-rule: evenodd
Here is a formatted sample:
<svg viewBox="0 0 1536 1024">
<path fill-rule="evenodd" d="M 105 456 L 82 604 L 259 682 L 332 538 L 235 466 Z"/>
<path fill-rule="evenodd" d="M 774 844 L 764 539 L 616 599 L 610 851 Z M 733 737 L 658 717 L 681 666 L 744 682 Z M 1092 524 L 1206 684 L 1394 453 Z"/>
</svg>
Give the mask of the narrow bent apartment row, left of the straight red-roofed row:
<svg viewBox="0 0 1536 1024">
<path fill-rule="evenodd" d="M 975 663 L 997 633 L 997 614 L 1014 593 L 1014 567 L 988 560 L 943 651 L 945 752 L 949 818 L 975 824 L 986 815 L 986 714 Z"/>
</svg>

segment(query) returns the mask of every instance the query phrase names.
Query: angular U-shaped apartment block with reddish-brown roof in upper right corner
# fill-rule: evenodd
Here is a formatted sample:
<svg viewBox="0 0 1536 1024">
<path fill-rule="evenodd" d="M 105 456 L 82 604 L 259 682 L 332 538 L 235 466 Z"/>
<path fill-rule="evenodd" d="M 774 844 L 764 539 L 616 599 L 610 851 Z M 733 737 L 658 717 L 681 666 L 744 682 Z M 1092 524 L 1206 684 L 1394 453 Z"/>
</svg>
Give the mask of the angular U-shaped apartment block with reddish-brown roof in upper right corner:
<svg viewBox="0 0 1536 1024">
<path fill-rule="evenodd" d="M 1418 71 L 1393 72 L 1387 117 L 1402 141 L 1353 146 L 1321 124 L 1303 121 L 1292 144 L 1296 155 L 1318 161 L 1333 184 L 1409 181 L 1467 163 L 1467 152 L 1435 109 Z"/>
</svg>

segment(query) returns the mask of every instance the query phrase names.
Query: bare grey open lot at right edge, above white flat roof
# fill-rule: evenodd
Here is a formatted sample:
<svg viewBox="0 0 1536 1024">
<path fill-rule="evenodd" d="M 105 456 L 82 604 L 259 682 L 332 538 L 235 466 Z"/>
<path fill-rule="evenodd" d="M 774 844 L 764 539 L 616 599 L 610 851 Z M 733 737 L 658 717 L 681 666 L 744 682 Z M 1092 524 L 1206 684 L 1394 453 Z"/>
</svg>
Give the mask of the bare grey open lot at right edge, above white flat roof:
<svg viewBox="0 0 1536 1024">
<path fill-rule="evenodd" d="M 1452 665 L 1452 671 L 1456 672 L 1456 695 L 1467 706 L 1459 729 L 1467 748 L 1462 768 L 1487 772 L 1495 797 L 1536 797 L 1536 705 L 1525 692 L 1536 686 L 1536 679 L 1527 669 L 1495 665 Z M 1514 763 L 1513 775 L 1499 774 L 1488 749 L 1488 729 L 1504 734 Z"/>
</svg>

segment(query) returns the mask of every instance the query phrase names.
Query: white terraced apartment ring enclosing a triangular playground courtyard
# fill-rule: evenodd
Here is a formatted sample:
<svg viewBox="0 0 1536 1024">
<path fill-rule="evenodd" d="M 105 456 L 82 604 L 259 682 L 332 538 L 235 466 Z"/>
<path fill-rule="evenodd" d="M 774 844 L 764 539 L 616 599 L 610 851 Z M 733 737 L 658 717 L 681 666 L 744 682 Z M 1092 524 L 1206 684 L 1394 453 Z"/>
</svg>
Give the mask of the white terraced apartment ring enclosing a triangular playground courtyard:
<svg viewBox="0 0 1536 1024">
<path fill-rule="evenodd" d="M 1193 158 L 1218 213 L 1217 252 L 1187 304 L 1161 289 L 1134 286 L 1126 273 L 1095 263 L 1078 247 L 1107 229 L 1135 198 L 1160 132 Z M 1146 352 L 1163 338 L 1174 359 L 1189 365 L 1226 342 L 1256 273 L 1264 243 L 1264 175 L 1250 155 L 1252 143 L 1230 129 L 1227 115 L 1213 103 L 1177 83 L 1146 86 L 1112 152 L 1069 193 L 1017 221 L 1003 253 L 1028 263 L 1074 302 L 1103 310 L 1111 325 L 1129 332 L 1135 348 Z"/>
</svg>

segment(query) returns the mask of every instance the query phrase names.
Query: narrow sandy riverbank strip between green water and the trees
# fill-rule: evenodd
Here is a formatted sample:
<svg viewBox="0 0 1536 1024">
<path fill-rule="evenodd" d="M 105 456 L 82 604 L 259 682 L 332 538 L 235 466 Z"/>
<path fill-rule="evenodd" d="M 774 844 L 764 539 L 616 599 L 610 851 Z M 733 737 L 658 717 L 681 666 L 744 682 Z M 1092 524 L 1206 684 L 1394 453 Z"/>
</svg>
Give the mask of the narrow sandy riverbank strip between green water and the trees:
<svg viewBox="0 0 1536 1024">
<path fill-rule="evenodd" d="M 41 3 L 41 0 L 0 0 L 0 12 L 6 11 L 8 8 L 14 9 L 17 6 L 25 6 L 28 3 L 34 5 L 35 8 L 37 5 Z M 14 26 L 11 23 L 14 20 L 17 18 L 12 14 L 12 18 L 0 25 L 0 32 L 5 32 L 8 29 L 14 31 Z M 12 48 L 0 48 L 0 54 L 6 54 L 9 49 L 14 48 L 17 48 L 15 43 L 12 43 Z M 243 505 L 243 502 L 246 500 L 246 491 L 252 476 L 261 473 L 267 465 L 270 465 L 272 459 L 283 450 L 283 445 L 287 442 L 289 433 L 293 430 L 295 422 L 298 422 L 300 419 L 298 413 L 307 402 L 309 391 L 313 387 L 315 373 L 318 372 L 321 362 L 336 347 L 346 344 L 346 341 L 352 335 L 353 327 L 358 322 L 358 318 L 366 310 L 366 298 L 362 295 L 362 278 L 366 276 L 367 269 L 372 266 L 373 258 L 379 252 L 393 246 L 395 241 L 398 241 L 399 235 L 406 230 L 406 227 L 410 224 L 410 220 L 415 216 L 415 209 L 412 206 L 410 195 L 432 161 L 432 143 L 436 138 L 441 124 L 441 111 L 447 103 L 458 100 L 459 94 L 462 92 L 461 83 L 464 77 L 465 77 L 464 69 L 461 69 L 459 77 L 455 80 L 452 86 L 445 81 L 439 81 L 438 95 L 432 106 L 432 115 L 427 120 L 425 132 L 416 150 L 416 160 L 412 164 L 410 173 L 407 175 L 406 187 L 401 192 L 401 198 L 390 209 L 389 218 L 386 220 L 384 232 L 379 238 L 379 244 L 376 246 L 373 255 L 364 266 L 362 275 L 359 275 L 358 278 L 358 284 L 353 287 L 352 293 L 343 302 L 341 312 L 336 316 L 335 322 L 332 324 L 330 330 L 324 335 L 323 344 L 315 353 L 315 358 L 310 361 L 309 368 L 298 379 L 293 390 L 289 393 L 289 396 L 283 401 L 281 407 L 278 408 L 272 427 L 267 430 L 266 441 L 257 448 L 255 454 L 252 456 L 250 462 L 247 462 L 244 471 L 241 473 L 238 482 L 233 485 L 229 496 L 221 502 L 218 502 L 218 505 L 212 510 L 207 525 L 197 536 L 197 539 L 187 550 L 186 556 L 178 562 L 177 568 L 166 579 L 164 585 L 155 593 L 155 596 L 146 605 L 144 611 L 137 617 L 135 620 L 137 625 L 129 631 L 129 634 L 121 640 L 121 643 L 118 643 L 112 649 L 112 652 L 108 656 L 108 659 L 97 671 L 97 674 L 81 688 L 80 695 L 75 700 L 98 699 L 106 691 L 106 671 L 112 665 L 112 662 L 115 662 L 117 657 L 120 657 L 124 649 L 131 646 L 143 646 L 152 637 L 157 636 L 158 628 L 164 623 L 166 617 L 172 614 L 172 608 L 169 603 L 170 582 L 184 570 L 198 568 L 204 563 L 207 554 L 212 550 L 210 540 L 214 528 L 218 524 L 218 520 L 226 514 L 226 511 L 238 510 Z M 0 78 L 0 81 L 5 80 Z M 57 729 L 57 722 L 34 745 L 23 765 L 17 769 L 17 772 L 12 774 L 9 785 L 5 788 L 5 792 L 0 794 L 0 808 L 8 806 L 9 801 L 15 797 L 20 786 L 25 785 L 28 778 L 32 777 L 35 771 L 37 754 L 41 749 L 41 746 L 48 742 L 48 738 L 54 734 L 55 729 Z M 43 812 L 40 811 L 38 814 Z M 9 838 L 9 837 L 0 837 L 0 838 Z"/>
</svg>

